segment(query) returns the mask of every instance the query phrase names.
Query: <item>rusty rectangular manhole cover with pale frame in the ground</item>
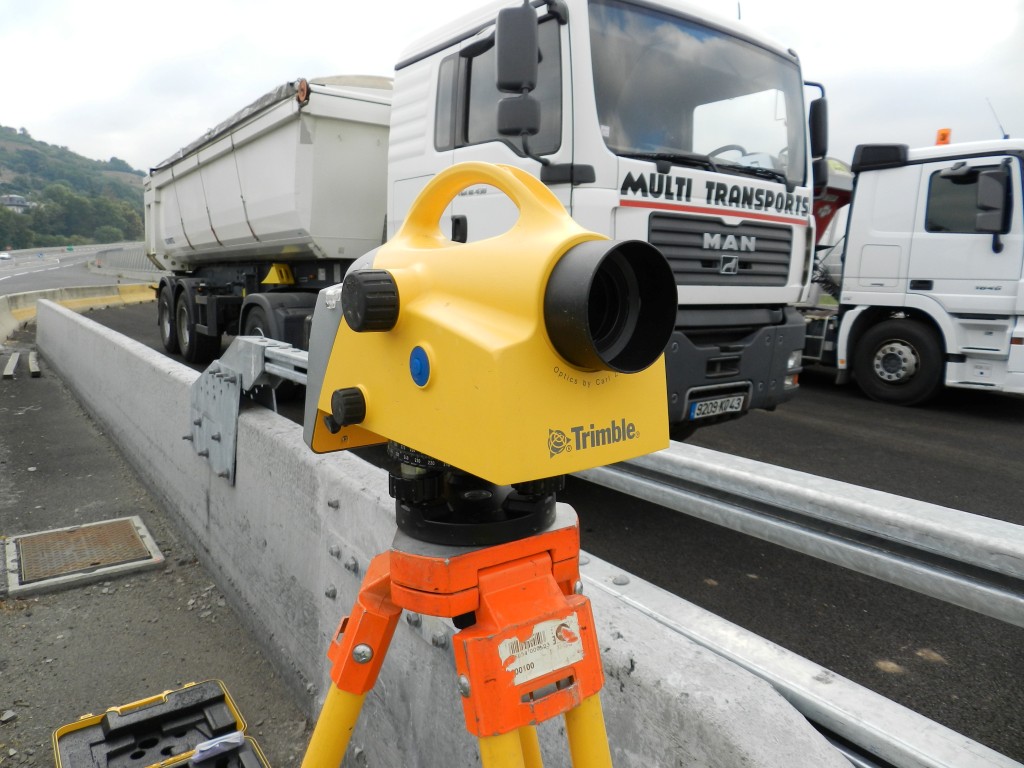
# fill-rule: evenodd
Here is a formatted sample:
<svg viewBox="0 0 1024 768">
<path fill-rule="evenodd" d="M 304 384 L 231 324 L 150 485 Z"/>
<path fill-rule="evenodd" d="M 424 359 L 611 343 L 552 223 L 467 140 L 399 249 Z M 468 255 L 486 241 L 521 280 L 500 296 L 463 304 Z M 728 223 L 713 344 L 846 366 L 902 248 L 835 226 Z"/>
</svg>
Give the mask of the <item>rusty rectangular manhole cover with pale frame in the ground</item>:
<svg viewBox="0 0 1024 768">
<path fill-rule="evenodd" d="M 12 537 L 6 550 L 8 594 L 12 597 L 164 561 L 138 517 Z"/>
</svg>

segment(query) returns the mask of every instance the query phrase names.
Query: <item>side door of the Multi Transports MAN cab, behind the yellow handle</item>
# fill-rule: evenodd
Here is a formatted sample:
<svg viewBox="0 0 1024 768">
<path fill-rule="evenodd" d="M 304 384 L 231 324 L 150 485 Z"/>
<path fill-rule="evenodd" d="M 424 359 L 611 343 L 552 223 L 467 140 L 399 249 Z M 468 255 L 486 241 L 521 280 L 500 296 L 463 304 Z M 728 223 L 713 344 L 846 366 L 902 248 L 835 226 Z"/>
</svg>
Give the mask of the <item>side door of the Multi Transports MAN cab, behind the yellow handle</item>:
<svg viewBox="0 0 1024 768">
<path fill-rule="evenodd" d="M 494 28 L 463 44 L 453 99 L 456 119 L 453 121 L 452 153 L 456 163 L 502 163 L 538 176 L 541 164 L 529 155 L 543 157 L 552 165 L 571 164 L 568 27 L 549 15 L 542 17 L 538 32 L 541 58 L 532 96 L 541 102 L 541 130 L 528 137 L 525 150 L 520 138 L 498 134 L 498 101 L 510 94 L 502 93 L 496 85 Z M 551 186 L 567 209 L 571 188 L 569 183 Z M 452 214 L 454 231 L 466 241 L 500 234 L 518 217 L 518 211 L 505 195 L 483 184 L 464 190 L 453 203 Z"/>
</svg>

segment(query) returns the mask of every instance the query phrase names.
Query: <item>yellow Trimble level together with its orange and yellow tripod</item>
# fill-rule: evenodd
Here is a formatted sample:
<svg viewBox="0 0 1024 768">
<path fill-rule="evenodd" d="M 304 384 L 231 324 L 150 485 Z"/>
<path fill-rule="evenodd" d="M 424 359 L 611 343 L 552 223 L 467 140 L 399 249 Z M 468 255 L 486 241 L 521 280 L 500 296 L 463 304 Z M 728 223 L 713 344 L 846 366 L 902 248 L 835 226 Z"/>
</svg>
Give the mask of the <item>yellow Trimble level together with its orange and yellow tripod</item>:
<svg viewBox="0 0 1024 768">
<path fill-rule="evenodd" d="M 439 219 L 476 184 L 519 218 L 454 243 Z M 657 249 L 589 232 L 535 177 L 482 163 L 438 174 L 395 238 L 322 292 L 304 438 L 318 453 L 388 441 L 398 531 L 335 633 L 303 766 L 344 758 L 404 609 L 459 628 L 485 768 L 542 765 L 535 726 L 560 715 L 573 765 L 611 765 L 579 523 L 555 496 L 568 472 L 668 445 L 675 312 Z"/>
</svg>

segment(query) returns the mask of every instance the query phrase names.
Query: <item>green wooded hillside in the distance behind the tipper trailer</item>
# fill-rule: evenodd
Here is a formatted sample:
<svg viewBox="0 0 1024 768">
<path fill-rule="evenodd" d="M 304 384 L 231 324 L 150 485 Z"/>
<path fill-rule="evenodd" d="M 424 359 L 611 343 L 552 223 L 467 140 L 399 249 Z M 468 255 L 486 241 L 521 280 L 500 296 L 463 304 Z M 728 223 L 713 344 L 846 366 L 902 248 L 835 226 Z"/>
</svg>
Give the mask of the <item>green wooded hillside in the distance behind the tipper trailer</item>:
<svg viewBox="0 0 1024 768">
<path fill-rule="evenodd" d="M 141 240 L 143 175 L 0 126 L 0 249 Z"/>
</svg>

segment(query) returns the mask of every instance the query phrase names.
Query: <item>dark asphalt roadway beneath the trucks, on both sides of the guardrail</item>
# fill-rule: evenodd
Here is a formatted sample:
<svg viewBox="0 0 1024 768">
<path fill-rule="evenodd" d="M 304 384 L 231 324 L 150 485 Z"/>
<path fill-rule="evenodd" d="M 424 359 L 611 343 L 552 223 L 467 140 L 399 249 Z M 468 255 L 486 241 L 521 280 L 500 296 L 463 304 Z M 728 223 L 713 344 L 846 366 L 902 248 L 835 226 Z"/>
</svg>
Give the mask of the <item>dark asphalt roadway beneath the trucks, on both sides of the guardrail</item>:
<svg viewBox="0 0 1024 768">
<path fill-rule="evenodd" d="M 161 349 L 153 305 L 91 316 Z M 822 373 L 802 382 L 777 412 L 690 441 L 1024 523 L 1024 399 L 901 409 Z M 579 480 L 562 500 L 590 552 L 1024 762 L 1024 630 Z"/>
</svg>

